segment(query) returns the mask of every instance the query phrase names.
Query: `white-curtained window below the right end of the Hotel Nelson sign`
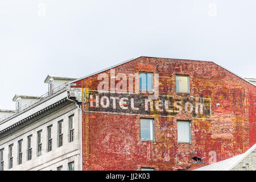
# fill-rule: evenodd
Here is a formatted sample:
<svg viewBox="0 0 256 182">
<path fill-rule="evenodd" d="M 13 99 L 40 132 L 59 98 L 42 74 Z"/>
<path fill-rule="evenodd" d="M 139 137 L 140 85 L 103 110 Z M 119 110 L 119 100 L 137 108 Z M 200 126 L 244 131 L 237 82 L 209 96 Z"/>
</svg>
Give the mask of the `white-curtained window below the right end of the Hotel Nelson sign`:
<svg viewBox="0 0 256 182">
<path fill-rule="evenodd" d="M 191 127 L 189 121 L 177 121 L 177 142 L 191 143 Z"/>
</svg>

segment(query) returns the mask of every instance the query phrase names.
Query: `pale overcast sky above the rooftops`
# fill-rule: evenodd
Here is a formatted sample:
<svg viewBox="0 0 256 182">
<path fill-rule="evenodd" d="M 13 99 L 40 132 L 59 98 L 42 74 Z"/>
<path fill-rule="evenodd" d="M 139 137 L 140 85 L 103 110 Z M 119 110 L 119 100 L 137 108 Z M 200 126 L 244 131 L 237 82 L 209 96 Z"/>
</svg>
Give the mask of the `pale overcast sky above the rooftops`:
<svg viewBox="0 0 256 182">
<path fill-rule="evenodd" d="M 1 0 L 0 109 L 138 56 L 210 60 L 256 78 L 256 1 Z"/>
</svg>

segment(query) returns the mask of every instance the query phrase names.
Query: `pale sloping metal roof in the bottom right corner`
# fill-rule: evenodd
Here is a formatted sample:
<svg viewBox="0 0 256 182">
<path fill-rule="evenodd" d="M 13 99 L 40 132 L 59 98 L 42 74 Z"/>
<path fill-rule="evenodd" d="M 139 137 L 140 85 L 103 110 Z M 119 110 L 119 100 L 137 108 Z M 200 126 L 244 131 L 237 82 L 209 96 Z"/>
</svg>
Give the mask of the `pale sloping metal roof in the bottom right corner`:
<svg viewBox="0 0 256 182">
<path fill-rule="evenodd" d="M 233 156 L 232 158 L 221 160 L 220 162 L 210 164 L 208 166 L 194 169 L 193 171 L 230 171 L 237 166 L 243 159 L 251 154 L 256 149 L 256 143 L 249 148 L 245 153 Z"/>
</svg>

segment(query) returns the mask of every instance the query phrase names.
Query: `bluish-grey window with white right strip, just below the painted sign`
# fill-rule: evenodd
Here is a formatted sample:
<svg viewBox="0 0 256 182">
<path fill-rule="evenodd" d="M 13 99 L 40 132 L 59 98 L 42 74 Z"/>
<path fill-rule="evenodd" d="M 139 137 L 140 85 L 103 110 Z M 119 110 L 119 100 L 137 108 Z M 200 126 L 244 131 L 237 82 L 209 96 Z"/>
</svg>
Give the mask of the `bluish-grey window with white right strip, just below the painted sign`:
<svg viewBox="0 0 256 182">
<path fill-rule="evenodd" d="M 141 140 L 154 141 L 154 119 L 141 118 Z"/>
</svg>

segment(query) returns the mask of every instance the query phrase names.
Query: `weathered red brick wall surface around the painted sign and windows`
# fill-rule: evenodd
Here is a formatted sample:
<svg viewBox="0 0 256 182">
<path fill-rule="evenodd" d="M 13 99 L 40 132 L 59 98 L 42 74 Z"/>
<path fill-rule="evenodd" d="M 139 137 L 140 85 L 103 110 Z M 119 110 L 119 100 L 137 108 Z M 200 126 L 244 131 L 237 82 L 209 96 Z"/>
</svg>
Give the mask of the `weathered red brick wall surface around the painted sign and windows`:
<svg viewBox="0 0 256 182">
<path fill-rule="evenodd" d="M 256 143 L 256 87 L 217 64 L 139 57 L 114 69 L 115 74 L 158 73 L 160 97 L 210 98 L 211 113 L 195 117 L 182 110 L 166 117 L 155 107 L 151 115 L 113 114 L 110 107 L 93 113 L 87 98 L 82 103 L 84 170 L 184 169 L 192 163 L 192 156 L 205 156 L 208 164 L 209 152 L 215 151 L 218 162 L 242 154 Z M 105 73 L 110 75 L 110 70 Z M 189 75 L 189 94 L 176 93 L 176 74 Z M 79 80 L 74 87 L 97 90 L 97 76 Z M 154 118 L 155 142 L 140 140 L 141 117 Z M 176 121 L 183 119 L 191 119 L 191 144 L 177 143 Z"/>
</svg>

